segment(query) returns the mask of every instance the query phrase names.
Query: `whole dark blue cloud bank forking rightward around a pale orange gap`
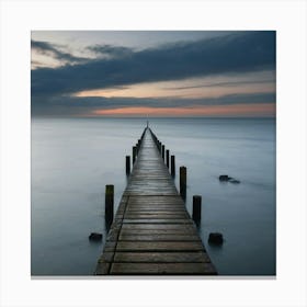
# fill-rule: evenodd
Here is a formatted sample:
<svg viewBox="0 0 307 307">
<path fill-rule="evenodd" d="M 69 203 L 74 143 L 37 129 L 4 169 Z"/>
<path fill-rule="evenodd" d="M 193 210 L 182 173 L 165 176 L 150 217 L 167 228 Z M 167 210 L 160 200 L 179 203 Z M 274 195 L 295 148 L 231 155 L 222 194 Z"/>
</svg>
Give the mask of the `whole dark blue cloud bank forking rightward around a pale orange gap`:
<svg viewBox="0 0 307 307">
<path fill-rule="evenodd" d="M 78 58 L 46 42 L 32 48 L 68 65 L 32 70 L 32 114 L 79 114 L 94 107 L 132 105 L 177 107 L 274 102 L 275 93 L 226 95 L 218 99 L 76 98 L 73 93 L 127 87 L 143 82 L 183 80 L 216 75 L 275 70 L 275 32 L 241 32 L 203 41 L 179 42 L 135 52 L 127 47 L 94 45 L 96 58 Z"/>
</svg>

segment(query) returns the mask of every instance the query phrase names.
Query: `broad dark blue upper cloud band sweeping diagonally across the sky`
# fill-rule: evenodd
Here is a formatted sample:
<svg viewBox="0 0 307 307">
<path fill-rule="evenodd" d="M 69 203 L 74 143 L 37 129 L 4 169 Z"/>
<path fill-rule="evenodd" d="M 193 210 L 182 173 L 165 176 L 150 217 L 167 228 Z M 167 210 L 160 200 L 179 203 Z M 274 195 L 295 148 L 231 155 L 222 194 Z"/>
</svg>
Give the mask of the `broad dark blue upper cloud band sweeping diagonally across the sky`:
<svg viewBox="0 0 307 307">
<path fill-rule="evenodd" d="M 45 50 L 48 45 L 34 42 Z M 46 44 L 46 43 L 45 43 Z M 120 56 L 118 47 L 96 46 L 115 58 L 98 58 L 73 66 L 32 71 L 32 96 L 69 94 L 82 90 L 128 86 L 139 82 L 180 80 L 211 75 L 275 69 L 275 32 L 242 32 L 197 42 L 182 42 Z M 57 49 L 58 58 L 71 55 Z M 125 54 L 125 52 L 123 53 Z"/>
</svg>

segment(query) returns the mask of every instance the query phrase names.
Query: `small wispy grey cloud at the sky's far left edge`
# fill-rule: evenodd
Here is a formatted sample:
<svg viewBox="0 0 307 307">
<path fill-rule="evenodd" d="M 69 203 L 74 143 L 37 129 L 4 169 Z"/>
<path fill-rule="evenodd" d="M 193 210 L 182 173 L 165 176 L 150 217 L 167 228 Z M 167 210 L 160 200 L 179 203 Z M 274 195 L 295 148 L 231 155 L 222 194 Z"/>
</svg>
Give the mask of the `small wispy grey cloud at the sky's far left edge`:
<svg viewBox="0 0 307 307">
<path fill-rule="evenodd" d="M 31 41 L 31 48 L 39 54 L 52 56 L 53 58 L 64 62 L 72 64 L 84 62 L 89 60 L 88 58 L 76 57 L 69 53 L 64 53 L 59 50 L 57 46 L 48 42 Z"/>
</svg>

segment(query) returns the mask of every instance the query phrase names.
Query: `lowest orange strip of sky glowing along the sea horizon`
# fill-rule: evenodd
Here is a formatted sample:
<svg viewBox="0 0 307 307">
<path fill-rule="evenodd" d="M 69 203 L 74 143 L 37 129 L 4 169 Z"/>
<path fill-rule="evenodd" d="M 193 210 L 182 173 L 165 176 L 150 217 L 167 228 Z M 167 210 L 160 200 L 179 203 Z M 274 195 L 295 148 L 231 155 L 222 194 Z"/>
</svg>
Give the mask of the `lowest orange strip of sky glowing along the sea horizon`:
<svg viewBox="0 0 307 307">
<path fill-rule="evenodd" d="M 196 105 L 193 107 L 128 106 L 95 110 L 90 116 L 274 116 L 275 103 Z"/>
</svg>

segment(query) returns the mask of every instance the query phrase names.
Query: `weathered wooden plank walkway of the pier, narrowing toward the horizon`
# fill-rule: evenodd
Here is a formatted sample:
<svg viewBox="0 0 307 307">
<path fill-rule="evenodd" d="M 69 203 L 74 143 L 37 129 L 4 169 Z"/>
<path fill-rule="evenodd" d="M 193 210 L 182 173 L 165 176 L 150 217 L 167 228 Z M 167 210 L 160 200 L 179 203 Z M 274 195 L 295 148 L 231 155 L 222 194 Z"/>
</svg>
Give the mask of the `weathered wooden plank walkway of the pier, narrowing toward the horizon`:
<svg viewBox="0 0 307 307">
<path fill-rule="evenodd" d="M 145 128 L 95 275 L 217 274 L 157 141 Z"/>
</svg>

